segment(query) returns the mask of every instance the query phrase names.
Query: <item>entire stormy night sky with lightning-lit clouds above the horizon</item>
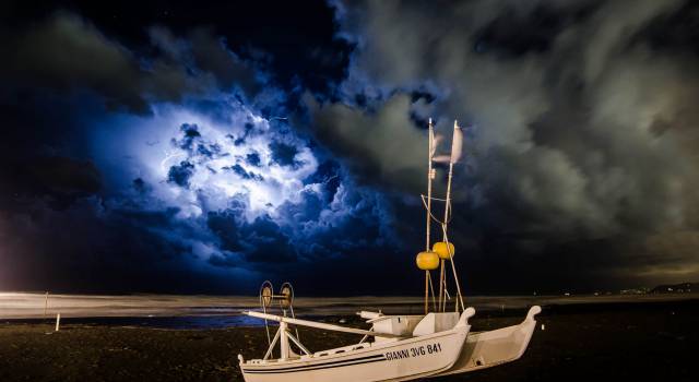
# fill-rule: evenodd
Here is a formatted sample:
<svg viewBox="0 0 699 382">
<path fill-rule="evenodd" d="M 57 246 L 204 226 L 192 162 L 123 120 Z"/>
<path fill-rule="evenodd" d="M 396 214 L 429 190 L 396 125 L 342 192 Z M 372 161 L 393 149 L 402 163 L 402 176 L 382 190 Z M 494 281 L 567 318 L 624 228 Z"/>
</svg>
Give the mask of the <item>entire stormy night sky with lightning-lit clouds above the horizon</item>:
<svg viewBox="0 0 699 382">
<path fill-rule="evenodd" d="M 429 117 L 467 294 L 699 279 L 697 2 L 3 1 L 0 51 L 0 290 L 419 295 Z"/>
</svg>

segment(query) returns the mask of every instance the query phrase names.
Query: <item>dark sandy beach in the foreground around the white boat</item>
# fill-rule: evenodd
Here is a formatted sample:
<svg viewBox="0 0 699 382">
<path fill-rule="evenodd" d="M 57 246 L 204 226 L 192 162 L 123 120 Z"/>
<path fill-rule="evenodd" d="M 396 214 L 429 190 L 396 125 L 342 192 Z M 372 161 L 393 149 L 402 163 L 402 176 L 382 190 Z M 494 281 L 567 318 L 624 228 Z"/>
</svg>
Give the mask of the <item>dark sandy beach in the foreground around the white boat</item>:
<svg viewBox="0 0 699 382">
<path fill-rule="evenodd" d="M 522 309 L 493 310 L 472 323 L 490 330 L 523 315 Z M 241 381 L 237 355 L 259 358 L 266 349 L 263 327 L 68 324 L 51 331 L 48 323 L 0 323 L 0 381 Z M 311 350 L 358 341 L 317 331 L 300 337 Z M 697 299 L 549 305 L 522 359 L 430 381 L 699 381 L 698 345 Z"/>
</svg>

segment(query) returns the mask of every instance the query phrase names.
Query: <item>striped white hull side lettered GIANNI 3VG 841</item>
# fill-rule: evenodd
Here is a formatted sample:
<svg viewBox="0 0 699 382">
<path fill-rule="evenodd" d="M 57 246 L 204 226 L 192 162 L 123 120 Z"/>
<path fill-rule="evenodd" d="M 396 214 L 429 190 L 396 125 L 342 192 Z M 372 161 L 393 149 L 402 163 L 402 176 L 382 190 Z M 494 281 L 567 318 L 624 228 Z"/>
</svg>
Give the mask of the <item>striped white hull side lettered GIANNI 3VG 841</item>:
<svg viewBox="0 0 699 382">
<path fill-rule="evenodd" d="M 246 382 L 406 381 L 451 368 L 470 325 L 407 339 L 365 344 L 365 348 L 293 360 L 241 362 Z"/>
</svg>

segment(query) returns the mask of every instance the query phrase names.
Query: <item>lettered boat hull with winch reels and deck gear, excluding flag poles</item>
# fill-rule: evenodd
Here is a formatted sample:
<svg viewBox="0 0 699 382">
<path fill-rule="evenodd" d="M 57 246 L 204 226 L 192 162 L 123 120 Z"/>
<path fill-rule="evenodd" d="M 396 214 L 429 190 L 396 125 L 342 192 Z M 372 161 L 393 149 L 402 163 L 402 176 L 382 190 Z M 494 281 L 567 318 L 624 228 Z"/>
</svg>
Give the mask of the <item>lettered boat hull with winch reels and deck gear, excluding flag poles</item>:
<svg viewBox="0 0 699 382">
<path fill-rule="evenodd" d="M 275 321 L 279 329 L 273 338 L 268 332 L 270 347 L 262 359 L 246 361 L 241 355 L 238 356 L 246 382 L 406 381 L 447 371 L 459 359 L 471 329 L 469 318 L 475 314 L 473 308 L 462 313 L 431 312 L 427 315 L 360 312 L 371 324 L 371 329 L 359 330 L 296 319 L 293 313 L 293 288 L 288 283 L 279 295 L 273 295 L 271 284 L 265 282 L 260 300 L 263 311 L 249 311 L 246 314 L 263 319 L 265 324 L 266 321 Z M 280 300 L 283 315 L 266 313 L 274 300 Z M 356 344 L 311 353 L 289 325 L 352 333 L 363 337 Z M 269 329 L 266 325 L 265 327 Z M 369 337 L 374 337 L 374 341 L 367 341 Z M 277 345 L 280 358 L 271 359 Z"/>
</svg>

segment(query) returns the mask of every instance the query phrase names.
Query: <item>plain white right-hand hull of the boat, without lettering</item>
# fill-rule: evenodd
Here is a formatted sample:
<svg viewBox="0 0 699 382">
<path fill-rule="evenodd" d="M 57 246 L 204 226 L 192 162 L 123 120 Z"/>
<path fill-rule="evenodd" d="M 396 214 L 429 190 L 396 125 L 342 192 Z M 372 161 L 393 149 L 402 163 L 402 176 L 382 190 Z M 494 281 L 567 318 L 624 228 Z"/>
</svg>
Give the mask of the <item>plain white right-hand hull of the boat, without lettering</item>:
<svg viewBox="0 0 699 382">
<path fill-rule="evenodd" d="M 519 324 L 489 332 L 471 333 L 453 367 L 431 377 L 464 373 L 514 361 L 522 357 L 536 327 L 534 317 L 540 307 L 532 307 Z"/>
</svg>

